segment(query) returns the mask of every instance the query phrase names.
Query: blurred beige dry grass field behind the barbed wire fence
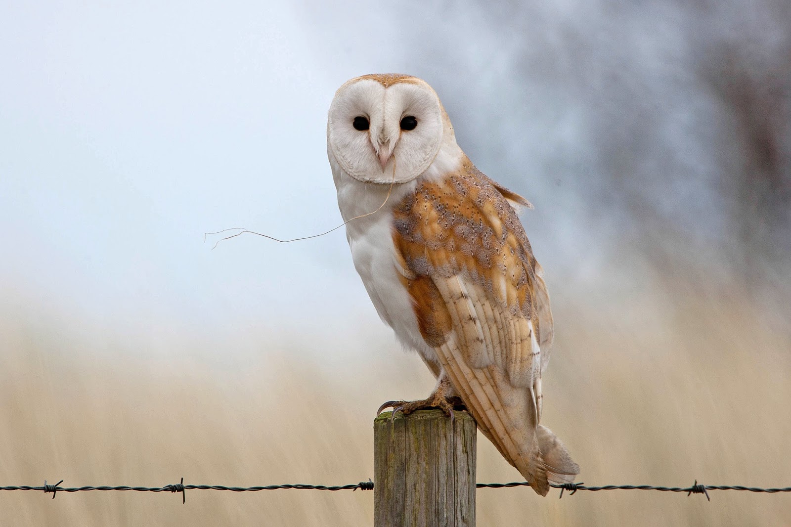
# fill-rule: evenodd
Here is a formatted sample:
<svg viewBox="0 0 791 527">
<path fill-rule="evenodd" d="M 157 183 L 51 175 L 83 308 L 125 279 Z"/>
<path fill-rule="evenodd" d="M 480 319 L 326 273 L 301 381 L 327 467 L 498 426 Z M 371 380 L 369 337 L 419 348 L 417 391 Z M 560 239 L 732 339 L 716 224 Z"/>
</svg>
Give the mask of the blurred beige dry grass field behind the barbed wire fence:
<svg viewBox="0 0 791 527">
<path fill-rule="evenodd" d="M 579 480 L 791 484 L 788 332 L 738 295 L 691 290 L 664 301 L 646 291 L 606 310 L 556 299 L 543 420 L 579 461 Z M 361 336 L 359 353 L 341 363 L 262 336 L 279 351 L 217 351 L 228 358 L 214 368 L 186 345 L 162 358 L 139 353 L 150 344 L 142 337 L 89 341 L 54 320 L 0 320 L 4 485 L 161 486 L 181 476 L 240 486 L 357 483 L 373 474 L 378 404 L 433 386 L 418 358 L 381 334 Z M 519 480 L 482 437 L 478 480 Z M 711 502 L 657 491 L 558 500 L 557 492 L 542 499 L 525 488 L 481 489 L 478 525 L 791 522 L 791 495 L 710 494 Z M 182 505 L 169 493 L 52 500 L 2 491 L 0 510 L 2 525 L 372 525 L 373 493 L 194 490 Z"/>
</svg>

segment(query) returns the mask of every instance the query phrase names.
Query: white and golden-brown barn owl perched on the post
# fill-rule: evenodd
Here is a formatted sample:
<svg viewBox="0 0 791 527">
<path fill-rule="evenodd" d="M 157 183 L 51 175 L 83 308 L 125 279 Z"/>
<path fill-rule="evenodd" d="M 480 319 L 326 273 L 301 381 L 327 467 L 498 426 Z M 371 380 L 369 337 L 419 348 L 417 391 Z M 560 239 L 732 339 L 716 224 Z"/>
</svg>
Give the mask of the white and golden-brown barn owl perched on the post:
<svg viewBox="0 0 791 527">
<path fill-rule="evenodd" d="M 452 415 L 458 397 L 537 493 L 573 481 L 577 464 L 539 424 L 553 328 L 515 210 L 530 203 L 472 165 L 437 93 L 408 75 L 342 85 L 327 155 L 354 267 L 384 323 L 437 377 L 426 400 L 379 411 Z"/>
</svg>

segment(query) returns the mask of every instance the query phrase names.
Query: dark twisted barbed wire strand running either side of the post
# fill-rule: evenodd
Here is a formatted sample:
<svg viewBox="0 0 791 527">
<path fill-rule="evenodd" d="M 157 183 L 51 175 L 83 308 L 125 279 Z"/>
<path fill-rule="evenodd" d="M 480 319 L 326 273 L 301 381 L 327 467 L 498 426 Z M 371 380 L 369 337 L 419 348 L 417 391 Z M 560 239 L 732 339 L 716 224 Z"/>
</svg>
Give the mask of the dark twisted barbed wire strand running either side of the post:
<svg viewBox="0 0 791 527">
<path fill-rule="evenodd" d="M 334 485 L 327 487 L 325 485 L 305 485 L 301 483 L 286 484 L 286 485 L 265 485 L 263 487 L 225 487 L 225 485 L 185 485 L 184 478 L 181 478 L 181 483 L 173 483 L 165 485 L 165 487 L 130 487 L 127 485 L 119 485 L 118 487 L 108 487 L 102 485 L 100 487 L 61 487 L 60 480 L 55 485 L 47 484 L 41 487 L 28 487 L 27 485 L 0 487 L 0 491 L 44 491 L 44 494 L 52 494 L 52 499 L 55 499 L 56 492 L 80 492 L 80 491 L 138 491 L 138 492 L 180 492 L 181 502 L 187 502 L 186 491 L 199 490 L 199 491 L 232 491 L 232 492 L 257 492 L 257 491 L 274 491 L 278 489 L 297 489 L 297 490 L 315 490 L 315 491 L 373 491 L 373 481 L 361 481 L 360 483 L 350 483 L 348 485 Z M 476 483 L 476 488 L 506 488 L 506 487 L 529 487 L 530 483 L 527 481 L 515 481 L 513 483 Z M 750 491 L 750 492 L 766 492 L 774 494 L 776 492 L 791 492 L 791 487 L 782 488 L 761 488 L 761 487 L 744 487 L 742 485 L 703 485 L 699 484 L 698 480 L 692 484 L 691 487 L 655 487 L 653 485 L 603 485 L 600 487 L 586 487 L 585 483 L 550 483 L 550 487 L 560 489 L 560 498 L 563 497 L 563 491 L 570 491 L 573 495 L 577 491 L 663 491 L 663 492 L 686 492 L 687 496 L 693 494 L 706 495 L 706 499 L 711 501 L 708 491 Z"/>
</svg>

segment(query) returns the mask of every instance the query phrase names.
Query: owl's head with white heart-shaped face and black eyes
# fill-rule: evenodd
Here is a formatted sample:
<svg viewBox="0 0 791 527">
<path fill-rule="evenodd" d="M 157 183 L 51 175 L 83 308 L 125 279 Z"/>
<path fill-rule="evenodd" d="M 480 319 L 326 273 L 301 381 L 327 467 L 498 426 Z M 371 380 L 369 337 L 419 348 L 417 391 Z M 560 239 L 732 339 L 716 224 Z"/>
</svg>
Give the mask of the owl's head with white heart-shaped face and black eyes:
<svg viewBox="0 0 791 527">
<path fill-rule="evenodd" d="M 335 93 L 327 146 L 356 180 L 390 183 L 395 177 L 395 183 L 406 183 L 437 157 L 445 119 L 437 93 L 419 78 L 363 75 Z"/>
</svg>

